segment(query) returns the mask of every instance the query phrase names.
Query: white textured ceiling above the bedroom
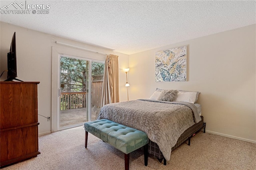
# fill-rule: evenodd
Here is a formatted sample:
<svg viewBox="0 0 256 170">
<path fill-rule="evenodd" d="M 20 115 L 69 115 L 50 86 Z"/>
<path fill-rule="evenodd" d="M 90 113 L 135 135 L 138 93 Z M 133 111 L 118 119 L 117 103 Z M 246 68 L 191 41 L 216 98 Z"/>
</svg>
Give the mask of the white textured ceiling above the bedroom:
<svg viewBox="0 0 256 170">
<path fill-rule="evenodd" d="M 17 2 L 49 4 L 49 14 L 1 14 L 2 22 L 126 54 L 256 24 L 256 1 Z"/>
</svg>

